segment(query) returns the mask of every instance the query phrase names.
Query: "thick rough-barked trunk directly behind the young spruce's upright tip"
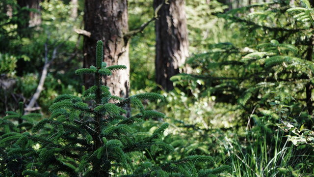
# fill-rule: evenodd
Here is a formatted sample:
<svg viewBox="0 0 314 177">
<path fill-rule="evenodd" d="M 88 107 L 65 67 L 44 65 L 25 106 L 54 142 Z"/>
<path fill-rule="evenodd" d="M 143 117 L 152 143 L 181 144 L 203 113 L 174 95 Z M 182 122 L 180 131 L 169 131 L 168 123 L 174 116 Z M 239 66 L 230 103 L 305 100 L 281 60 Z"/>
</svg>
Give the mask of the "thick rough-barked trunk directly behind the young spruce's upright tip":
<svg viewBox="0 0 314 177">
<path fill-rule="evenodd" d="M 123 98 L 129 96 L 130 61 L 129 44 L 123 34 L 128 32 L 127 0 L 85 0 L 84 29 L 91 36 L 84 36 L 83 67 L 95 65 L 96 43 L 104 42 L 104 61 L 107 66 L 122 64 L 126 70 L 114 71 L 112 76 L 103 77 L 103 82 L 110 88 L 112 95 Z M 84 85 L 94 85 L 92 75 L 84 76 Z"/>
</svg>

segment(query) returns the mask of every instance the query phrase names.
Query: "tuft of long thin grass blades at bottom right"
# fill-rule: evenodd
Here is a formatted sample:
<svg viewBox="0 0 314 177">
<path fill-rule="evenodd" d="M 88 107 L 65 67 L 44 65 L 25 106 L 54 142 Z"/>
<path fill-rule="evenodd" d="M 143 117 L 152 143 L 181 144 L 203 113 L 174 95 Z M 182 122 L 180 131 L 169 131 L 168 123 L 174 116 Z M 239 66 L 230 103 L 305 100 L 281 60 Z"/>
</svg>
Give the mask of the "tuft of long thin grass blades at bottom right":
<svg viewBox="0 0 314 177">
<path fill-rule="evenodd" d="M 304 149 L 295 148 L 283 132 L 277 131 L 272 136 L 273 145 L 269 145 L 269 136 L 263 133 L 247 134 L 245 143 L 238 136 L 226 137 L 225 147 L 235 177 L 314 177 L 314 164 L 310 160 L 313 156 L 300 154 L 296 157 L 298 151 Z"/>
</svg>

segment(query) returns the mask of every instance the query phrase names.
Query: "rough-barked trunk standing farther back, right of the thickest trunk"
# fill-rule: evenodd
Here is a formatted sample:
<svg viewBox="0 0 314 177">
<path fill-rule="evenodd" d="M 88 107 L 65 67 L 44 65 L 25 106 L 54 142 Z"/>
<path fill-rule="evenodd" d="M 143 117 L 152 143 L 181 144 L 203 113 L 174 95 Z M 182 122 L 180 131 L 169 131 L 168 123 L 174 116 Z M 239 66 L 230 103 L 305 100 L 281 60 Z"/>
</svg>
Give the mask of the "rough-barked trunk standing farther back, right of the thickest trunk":
<svg viewBox="0 0 314 177">
<path fill-rule="evenodd" d="M 154 9 L 164 0 L 154 0 Z M 172 90 L 170 78 L 180 73 L 179 67 L 188 57 L 188 38 L 184 0 L 168 0 L 158 11 L 156 30 L 156 82 Z"/>
</svg>

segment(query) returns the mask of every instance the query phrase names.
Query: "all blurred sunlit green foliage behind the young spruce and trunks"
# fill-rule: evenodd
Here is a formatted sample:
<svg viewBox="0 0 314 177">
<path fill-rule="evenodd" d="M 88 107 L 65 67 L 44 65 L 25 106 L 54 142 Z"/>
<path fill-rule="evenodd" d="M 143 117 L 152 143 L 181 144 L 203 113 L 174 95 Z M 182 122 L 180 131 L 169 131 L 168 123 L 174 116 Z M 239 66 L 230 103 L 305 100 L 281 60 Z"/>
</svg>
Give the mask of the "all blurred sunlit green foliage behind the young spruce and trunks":
<svg viewBox="0 0 314 177">
<path fill-rule="evenodd" d="M 129 0 L 129 26 L 136 29 L 154 15 L 153 0 Z M 82 65 L 83 0 L 73 17 L 70 0 L 43 0 L 40 25 L 21 28 L 24 11 L 15 0 L 0 2 L 0 117 L 16 111 L 35 92 L 44 65 L 45 44 L 53 60 L 37 101 L 38 113 L 61 93 L 81 90 L 74 74 Z M 155 91 L 165 103 L 146 102 L 166 115 L 139 123 L 139 132 L 170 127 L 164 140 L 177 159 L 194 154 L 213 156 L 215 166 L 229 164 L 234 177 L 313 177 L 314 119 L 306 94 L 313 85 L 313 15 L 306 1 L 187 0 L 191 74 L 172 78 L 175 89 L 155 83 L 155 29 L 151 23 L 130 40 L 131 95 Z M 291 7 L 308 9 L 304 17 Z M 290 9 L 290 10 L 288 10 Z M 287 11 L 288 10 L 288 11 Z M 298 15 L 299 16 L 296 16 Z M 21 25 L 22 24 L 22 25 Z M 312 51 L 313 52 L 313 48 Z M 312 89 L 311 89 L 312 95 Z M 313 105 L 312 105 L 313 107 Z M 171 135 L 171 136 L 170 136 Z"/>
</svg>

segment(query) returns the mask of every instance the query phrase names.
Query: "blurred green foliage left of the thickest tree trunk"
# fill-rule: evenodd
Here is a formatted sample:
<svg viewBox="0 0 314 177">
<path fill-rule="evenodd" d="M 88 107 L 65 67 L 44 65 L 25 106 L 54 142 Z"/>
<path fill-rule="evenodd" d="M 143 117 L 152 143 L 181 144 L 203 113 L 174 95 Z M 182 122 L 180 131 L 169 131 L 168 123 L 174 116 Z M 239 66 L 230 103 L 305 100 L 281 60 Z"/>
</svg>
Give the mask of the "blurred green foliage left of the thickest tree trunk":
<svg viewBox="0 0 314 177">
<path fill-rule="evenodd" d="M 31 3 L 37 2 L 39 1 Z M 73 6 L 69 2 L 42 0 L 39 2 L 40 10 L 21 7 L 16 0 L 0 2 L 1 80 L 4 77 L 14 83 L 9 89 L 0 91 L 0 97 L 4 98 L 0 101 L 1 116 L 4 116 L 7 110 L 17 110 L 17 102 L 27 102 L 32 97 L 42 73 L 45 55 L 51 59 L 54 48 L 60 44 L 62 47 L 55 51 L 56 58 L 50 64 L 45 89 L 37 101 L 37 107 L 41 107 L 46 113 L 55 96 L 77 92 L 80 89 L 80 78 L 75 76 L 74 72 L 64 74 L 65 70 L 75 70 L 80 65 L 76 58 L 79 57 L 78 51 L 82 43 L 72 30 L 78 27 L 82 20 L 82 1 L 78 2 L 76 19 L 71 16 Z M 41 23 L 28 26 L 30 14 L 39 11 Z"/>
</svg>

